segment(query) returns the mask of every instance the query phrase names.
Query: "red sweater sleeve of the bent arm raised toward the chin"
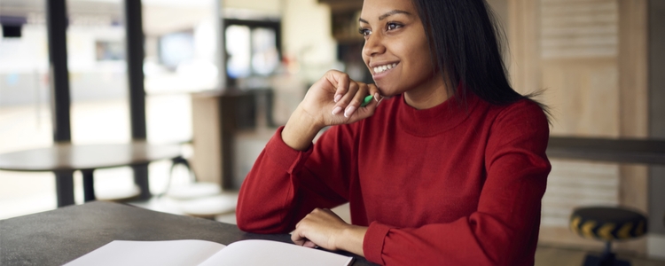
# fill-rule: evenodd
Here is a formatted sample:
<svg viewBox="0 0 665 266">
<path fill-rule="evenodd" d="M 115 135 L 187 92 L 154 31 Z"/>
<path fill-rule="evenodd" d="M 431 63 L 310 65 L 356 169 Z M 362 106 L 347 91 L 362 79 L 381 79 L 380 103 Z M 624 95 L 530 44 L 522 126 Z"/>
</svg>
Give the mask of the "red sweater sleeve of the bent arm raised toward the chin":
<svg viewBox="0 0 665 266">
<path fill-rule="evenodd" d="M 296 151 L 282 140 L 282 129 L 270 138 L 240 188 L 236 219 L 242 231 L 293 231 L 315 207 L 336 207 L 348 201 L 344 185 L 348 184 L 348 168 L 330 167 L 348 160 L 342 145 L 345 141 L 336 138 L 347 135 L 333 127 L 317 145 Z"/>
</svg>

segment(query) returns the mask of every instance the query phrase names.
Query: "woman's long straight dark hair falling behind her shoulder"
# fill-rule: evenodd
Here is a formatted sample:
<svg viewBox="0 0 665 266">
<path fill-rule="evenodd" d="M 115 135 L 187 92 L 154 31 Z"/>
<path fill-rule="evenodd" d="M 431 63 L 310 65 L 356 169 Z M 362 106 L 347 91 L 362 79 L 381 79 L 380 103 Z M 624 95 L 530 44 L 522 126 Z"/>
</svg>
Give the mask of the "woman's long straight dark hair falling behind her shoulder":
<svg viewBox="0 0 665 266">
<path fill-rule="evenodd" d="M 463 88 L 451 90 L 454 95 L 470 90 L 503 106 L 537 94 L 520 95 L 508 82 L 501 57 L 504 31 L 485 0 L 412 1 L 425 27 L 434 69 L 445 77 L 448 88 Z M 537 104 L 549 114 L 546 106 Z"/>
</svg>

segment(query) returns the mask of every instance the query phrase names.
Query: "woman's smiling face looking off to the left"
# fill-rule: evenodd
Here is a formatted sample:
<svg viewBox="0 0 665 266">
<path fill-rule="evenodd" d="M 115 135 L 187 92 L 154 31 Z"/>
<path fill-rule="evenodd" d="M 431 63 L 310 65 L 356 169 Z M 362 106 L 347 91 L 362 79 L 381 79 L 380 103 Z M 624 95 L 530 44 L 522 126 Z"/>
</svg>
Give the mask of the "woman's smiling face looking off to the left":
<svg viewBox="0 0 665 266">
<path fill-rule="evenodd" d="M 381 94 L 436 90 L 434 67 L 418 11 L 411 0 L 364 0 L 360 14 L 363 60 Z"/>
</svg>

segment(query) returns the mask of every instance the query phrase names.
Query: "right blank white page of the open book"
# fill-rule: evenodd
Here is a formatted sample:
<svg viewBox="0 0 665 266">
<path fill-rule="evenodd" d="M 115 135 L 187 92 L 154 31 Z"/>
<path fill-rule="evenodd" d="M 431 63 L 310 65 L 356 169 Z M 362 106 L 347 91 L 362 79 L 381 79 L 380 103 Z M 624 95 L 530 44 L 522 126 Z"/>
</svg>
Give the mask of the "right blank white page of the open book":
<svg viewBox="0 0 665 266">
<path fill-rule="evenodd" d="M 200 266 L 347 266 L 352 257 L 270 240 L 233 242 Z"/>
</svg>

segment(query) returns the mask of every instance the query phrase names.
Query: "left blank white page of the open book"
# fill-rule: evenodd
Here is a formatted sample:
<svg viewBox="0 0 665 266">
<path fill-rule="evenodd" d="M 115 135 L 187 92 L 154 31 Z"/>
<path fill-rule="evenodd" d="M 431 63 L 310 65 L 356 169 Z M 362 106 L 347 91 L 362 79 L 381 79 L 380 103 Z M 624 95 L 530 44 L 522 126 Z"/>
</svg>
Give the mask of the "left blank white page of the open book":
<svg viewBox="0 0 665 266">
<path fill-rule="evenodd" d="M 223 248 L 222 244 L 206 240 L 114 240 L 65 265 L 196 265 Z"/>
</svg>

